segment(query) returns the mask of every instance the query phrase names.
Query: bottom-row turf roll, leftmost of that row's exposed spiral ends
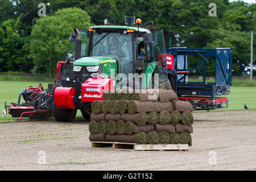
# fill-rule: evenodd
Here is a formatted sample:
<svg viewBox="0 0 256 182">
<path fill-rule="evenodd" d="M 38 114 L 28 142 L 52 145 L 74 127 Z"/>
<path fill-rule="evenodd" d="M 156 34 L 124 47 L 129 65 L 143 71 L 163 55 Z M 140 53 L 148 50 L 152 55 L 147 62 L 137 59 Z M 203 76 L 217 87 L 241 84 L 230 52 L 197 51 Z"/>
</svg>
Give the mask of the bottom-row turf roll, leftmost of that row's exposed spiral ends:
<svg viewBox="0 0 256 182">
<path fill-rule="evenodd" d="M 135 133 L 133 135 L 121 135 L 120 140 L 121 140 L 120 142 L 146 144 L 147 134 L 144 132 L 140 132 L 140 133 Z"/>
</svg>

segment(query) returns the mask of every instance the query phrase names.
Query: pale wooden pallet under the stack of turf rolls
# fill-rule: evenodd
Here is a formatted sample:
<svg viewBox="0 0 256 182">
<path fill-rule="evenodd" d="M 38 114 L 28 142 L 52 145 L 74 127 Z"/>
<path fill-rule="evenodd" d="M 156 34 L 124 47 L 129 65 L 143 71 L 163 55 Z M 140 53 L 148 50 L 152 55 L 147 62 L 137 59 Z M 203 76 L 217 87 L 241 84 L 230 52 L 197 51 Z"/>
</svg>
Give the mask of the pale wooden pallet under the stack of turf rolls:
<svg viewBox="0 0 256 182">
<path fill-rule="evenodd" d="M 123 150 L 123 151 L 144 151 L 144 150 L 188 150 L 188 144 L 136 144 L 124 142 L 92 142 L 94 149 Z"/>
</svg>

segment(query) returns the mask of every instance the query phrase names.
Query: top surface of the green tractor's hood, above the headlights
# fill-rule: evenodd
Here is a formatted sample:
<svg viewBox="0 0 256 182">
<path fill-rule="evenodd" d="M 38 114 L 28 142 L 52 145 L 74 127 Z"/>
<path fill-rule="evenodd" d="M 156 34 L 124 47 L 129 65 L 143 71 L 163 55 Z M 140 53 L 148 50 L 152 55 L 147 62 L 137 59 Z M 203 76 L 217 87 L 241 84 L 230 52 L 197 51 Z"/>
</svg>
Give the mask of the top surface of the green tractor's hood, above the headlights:
<svg viewBox="0 0 256 182">
<path fill-rule="evenodd" d="M 76 60 L 74 65 L 78 66 L 94 66 L 100 65 L 105 63 L 115 63 L 116 59 L 114 57 L 81 57 L 80 59 Z"/>
</svg>

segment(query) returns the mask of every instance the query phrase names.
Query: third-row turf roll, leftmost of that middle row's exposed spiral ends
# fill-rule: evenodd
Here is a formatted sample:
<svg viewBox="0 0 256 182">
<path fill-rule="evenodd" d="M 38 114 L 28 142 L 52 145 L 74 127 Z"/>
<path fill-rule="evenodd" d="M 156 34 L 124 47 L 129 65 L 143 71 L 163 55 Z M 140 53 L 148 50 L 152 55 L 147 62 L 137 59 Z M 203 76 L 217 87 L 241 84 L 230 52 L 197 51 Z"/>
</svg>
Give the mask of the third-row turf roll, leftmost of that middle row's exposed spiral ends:
<svg viewBox="0 0 256 182">
<path fill-rule="evenodd" d="M 122 114 L 120 119 L 122 121 L 132 121 L 136 123 L 138 126 L 143 126 L 148 121 L 148 115 L 145 112 L 136 113 L 136 114 Z"/>
</svg>

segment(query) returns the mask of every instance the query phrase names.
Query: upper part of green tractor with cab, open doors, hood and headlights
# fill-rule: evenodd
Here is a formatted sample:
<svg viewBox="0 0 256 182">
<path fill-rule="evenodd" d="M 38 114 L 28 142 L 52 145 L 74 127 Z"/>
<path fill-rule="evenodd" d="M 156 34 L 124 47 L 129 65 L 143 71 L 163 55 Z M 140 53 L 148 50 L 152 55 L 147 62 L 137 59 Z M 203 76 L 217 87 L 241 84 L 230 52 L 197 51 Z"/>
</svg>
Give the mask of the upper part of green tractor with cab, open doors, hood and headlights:
<svg viewBox="0 0 256 182">
<path fill-rule="evenodd" d="M 101 75 L 122 81 L 119 86 L 132 82 L 133 88 L 150 88 L 157 73 L 159 88 L 171 89 L 162 30 L 151 32 L 138 23 L 137 27 L 105 24 L 88 31 L 75 28 L 69 42 L 68 63 L 73 70 L 65 68 L 64 80 L 85 82 Z"/>
</svg>

